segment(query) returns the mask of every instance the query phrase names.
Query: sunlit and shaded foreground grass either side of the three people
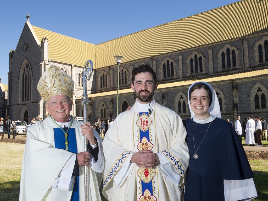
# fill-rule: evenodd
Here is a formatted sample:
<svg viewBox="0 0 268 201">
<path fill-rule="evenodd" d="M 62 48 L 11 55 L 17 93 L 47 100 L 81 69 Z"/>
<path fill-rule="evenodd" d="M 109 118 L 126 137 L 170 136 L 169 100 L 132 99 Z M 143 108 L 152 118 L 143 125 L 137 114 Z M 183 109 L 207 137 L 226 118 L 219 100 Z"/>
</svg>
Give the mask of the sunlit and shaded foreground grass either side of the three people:
<svg viewBox="0 0 268 201">
<path fill-rule="evenodd" d="M 24 146 L 24 144 L 0 142 L 1 201 L 17 201 L 19 198 Z M 258 192 L 258 197 L 254 201 L 268 201 L 268 160 L 250 160 L 250 165 L 255 175 L 254 182 Z"/>
</svg>

